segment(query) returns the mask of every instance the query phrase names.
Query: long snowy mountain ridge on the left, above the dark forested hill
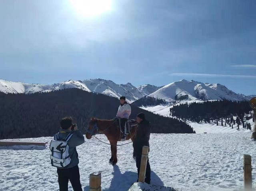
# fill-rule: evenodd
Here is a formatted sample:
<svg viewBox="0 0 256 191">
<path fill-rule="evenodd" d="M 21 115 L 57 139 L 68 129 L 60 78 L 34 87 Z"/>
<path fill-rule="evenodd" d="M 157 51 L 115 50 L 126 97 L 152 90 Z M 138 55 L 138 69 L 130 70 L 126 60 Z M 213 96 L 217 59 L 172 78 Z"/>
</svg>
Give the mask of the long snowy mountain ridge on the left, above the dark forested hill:
<svg viewBox="0 0 256 191">
<path fill-rule="evenodd" d="M 144 91 L 140 91 L 131 83 L 118 85 L 113 81 L 104 79 L 89 79 L 84 81 L 68 80 L 53 85 L 27 84 L 0 79 L 0 91 L 4 93 L 50 92 L 67 88 L 78 88 L 84 91 L 102 93 L 116 98 L 126 96 L 128 102 L 133 102 L 147 95 Z"/>
</svg>

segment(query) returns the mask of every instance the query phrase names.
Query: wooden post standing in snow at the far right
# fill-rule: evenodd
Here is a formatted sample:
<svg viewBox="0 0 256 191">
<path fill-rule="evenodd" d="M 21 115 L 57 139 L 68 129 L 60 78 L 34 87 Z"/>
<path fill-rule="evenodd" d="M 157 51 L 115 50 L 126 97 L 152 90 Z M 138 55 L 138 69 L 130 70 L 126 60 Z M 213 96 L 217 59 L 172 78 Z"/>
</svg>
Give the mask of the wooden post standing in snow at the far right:
<svg viewBox="0 0 256 191">
<path fill-rule="evenodd" d="M 244 154 L 244 190 L 252 191 L 252 158 Z"/>
</svg>

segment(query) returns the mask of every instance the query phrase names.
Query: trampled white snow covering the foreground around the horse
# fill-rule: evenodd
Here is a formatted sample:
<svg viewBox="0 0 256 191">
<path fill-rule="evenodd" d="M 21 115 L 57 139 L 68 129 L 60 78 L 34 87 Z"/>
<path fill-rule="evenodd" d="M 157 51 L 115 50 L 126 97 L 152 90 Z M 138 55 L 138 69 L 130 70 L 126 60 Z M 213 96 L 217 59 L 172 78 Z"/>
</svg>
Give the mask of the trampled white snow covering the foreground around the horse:
<svg viewBox="0 0 256 191">
<path fill-rule="evenodd" d="M 256 142 L 251 133 L 152 134 L 149 160 L 152 184 L 184 190 L 241 190 L 243 154 L 252 156 L 253 187 L 256 189 Z M 104 135 L 98 138 L 106 141 Z M 50 137 L 24 140 L 48 141 Z M 118 163 L 108 164 L 110 146 L 95 138 L 77 148 L 83 190 L 89 174 L 102 171 L 103 191 L 127 191 L 136 181 L 132 144 L 118 147 Z M 50 165 L 50 150 L 0 148 L 0 191 L 58 190 L 56 168 Z M 69 184 L 71 191 L 71 185 Z"/>
</svg>

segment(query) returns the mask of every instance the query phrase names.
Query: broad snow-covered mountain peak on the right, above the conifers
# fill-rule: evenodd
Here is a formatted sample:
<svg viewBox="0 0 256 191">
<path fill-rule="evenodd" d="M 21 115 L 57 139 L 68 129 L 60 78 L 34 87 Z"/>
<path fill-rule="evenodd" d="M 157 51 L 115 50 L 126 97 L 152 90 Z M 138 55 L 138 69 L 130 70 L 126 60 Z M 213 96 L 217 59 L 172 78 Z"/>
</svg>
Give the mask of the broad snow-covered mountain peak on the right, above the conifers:
<svg viewBox="0 0 256 191">
<path fill-rule="evenodd" d="M 155 98 L 165 99 L 169 102 L 174 100 L 250 100 L 249 96 L 234 93 L 221 84 L 209 84 L 198 81 L 181 80 L 170 83 L 154 93 L 148 95 Z"/>
</svg>

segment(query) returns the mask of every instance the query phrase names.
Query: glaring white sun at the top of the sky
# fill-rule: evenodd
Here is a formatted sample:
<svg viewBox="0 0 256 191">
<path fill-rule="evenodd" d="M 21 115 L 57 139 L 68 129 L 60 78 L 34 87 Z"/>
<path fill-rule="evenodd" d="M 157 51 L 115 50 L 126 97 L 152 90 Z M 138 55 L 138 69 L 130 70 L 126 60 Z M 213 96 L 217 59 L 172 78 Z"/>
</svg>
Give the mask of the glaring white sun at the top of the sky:
<svg viewBox="0 0 256 191">
<path fill-rule="evenodd" d="M 93 17 L 112 9 L 112 0 L 70 0 L 74 12 L 82 17 Z"/>
</svg>

